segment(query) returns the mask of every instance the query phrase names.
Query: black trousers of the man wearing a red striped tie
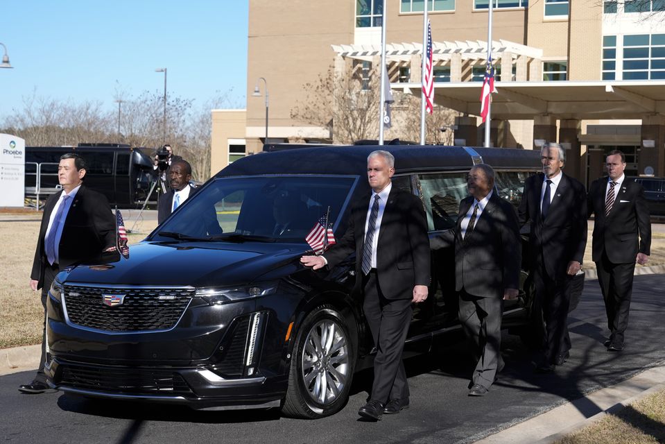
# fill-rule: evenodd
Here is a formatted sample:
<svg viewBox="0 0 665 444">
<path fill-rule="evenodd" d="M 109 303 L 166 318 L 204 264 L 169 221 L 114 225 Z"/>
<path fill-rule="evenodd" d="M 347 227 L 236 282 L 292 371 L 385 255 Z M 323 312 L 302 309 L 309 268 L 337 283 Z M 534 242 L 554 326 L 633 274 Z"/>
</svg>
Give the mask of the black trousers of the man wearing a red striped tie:
<svg viewBox="0 0 665 444">
<path fill-rule="evenodd" d="M 613 264 L 603 251 L 601 260 L 596 262 L 596 270 L 598 271 L 598 284 L 601 285 L 605 300 L 610 342 L 614 345 L 623 345 L 625 329 L 628 327 L 635 263 Z"/>
</svg>

